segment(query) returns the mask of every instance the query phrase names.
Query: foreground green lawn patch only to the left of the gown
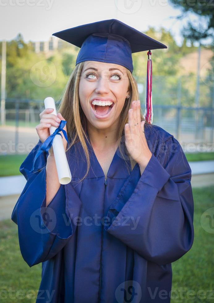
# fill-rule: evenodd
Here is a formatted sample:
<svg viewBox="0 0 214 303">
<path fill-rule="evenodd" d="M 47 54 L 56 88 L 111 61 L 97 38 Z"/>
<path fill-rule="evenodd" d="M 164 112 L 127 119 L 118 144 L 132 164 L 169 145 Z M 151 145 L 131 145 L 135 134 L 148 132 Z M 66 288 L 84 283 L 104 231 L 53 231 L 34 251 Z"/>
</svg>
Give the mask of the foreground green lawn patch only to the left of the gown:
<svg viewBox="0 0 214 303">
<path fill-rule="evenodd" d="M 24 262 L 19 249 L 17 225 L 12 220 L 0 221 L 0 230 L 0 292 L 2 297 L 6 297 L 2 302 L 34 303 L 41 281 L 41 263 L 30 268 Z M 27 294 L 32 294 L 31 299 Z"/>
</svg>

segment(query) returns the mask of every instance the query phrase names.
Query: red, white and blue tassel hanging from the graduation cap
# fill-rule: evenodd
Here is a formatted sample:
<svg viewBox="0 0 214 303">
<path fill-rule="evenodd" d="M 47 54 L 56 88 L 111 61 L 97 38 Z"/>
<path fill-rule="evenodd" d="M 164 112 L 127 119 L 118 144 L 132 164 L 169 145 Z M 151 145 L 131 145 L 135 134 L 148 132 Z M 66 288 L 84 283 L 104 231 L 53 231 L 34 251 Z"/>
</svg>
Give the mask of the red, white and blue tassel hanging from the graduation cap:
<svg viewBox="0 0 214 303">
<path fill-rule="evenodd" d="M 146 80 L 146 104 L 145 113 L 143 115 L 144 119 L 152 124 L 153 120 L 153 110 L 152 110 L 152 59 L 151 50 L 148 51 L 148 61 L 147 61 L 147 80 Z"/>
</svg>

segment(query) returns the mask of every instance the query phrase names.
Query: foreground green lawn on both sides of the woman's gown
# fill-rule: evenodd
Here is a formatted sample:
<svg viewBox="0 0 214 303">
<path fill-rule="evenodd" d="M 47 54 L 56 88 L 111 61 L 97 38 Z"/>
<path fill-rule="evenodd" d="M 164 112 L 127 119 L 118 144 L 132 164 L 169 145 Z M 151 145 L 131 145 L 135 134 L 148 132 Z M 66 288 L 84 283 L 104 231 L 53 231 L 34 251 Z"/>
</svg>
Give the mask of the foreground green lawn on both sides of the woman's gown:
<svg viewBox="0 0 214 303">
<path fill-rule="evenodd" d="M 213 207 L 214 186 L 194 188 L 193 195 L 195 239 L 192 248 L 182 258 L 172 263 L 172 295 L 178 298 L 171 298 L 171 303 L 212 302 L 208 296 L 214 289 L 214 237 L 213 233 L 208 233 L 201 227 L 200 217 L 204 211 Z M 10 219 L 0 222 L 0 230 L 0 291 L 6 291 L 2 292 L 8 296 L 5 302 L 35 302 L 41 282 L 41 263 L 30 268 L 24 262 L 19 250 L 17 225 L 14 222 Z M 14 300 L 9 297 L 10 289 L 15 290 L 13 295 L 18 290 L 23 290 L 25 294 L 32 290 L 31 293 L 35 295 L 32 299 L 25 296 L 23 299 Z M 204 299 L 197 295 L 199 290 L 204 291 Z M 195 298 L 190 299 L 194 292 Z M 179 294 L 183 295 L 183 299 Z"/>
</svg>

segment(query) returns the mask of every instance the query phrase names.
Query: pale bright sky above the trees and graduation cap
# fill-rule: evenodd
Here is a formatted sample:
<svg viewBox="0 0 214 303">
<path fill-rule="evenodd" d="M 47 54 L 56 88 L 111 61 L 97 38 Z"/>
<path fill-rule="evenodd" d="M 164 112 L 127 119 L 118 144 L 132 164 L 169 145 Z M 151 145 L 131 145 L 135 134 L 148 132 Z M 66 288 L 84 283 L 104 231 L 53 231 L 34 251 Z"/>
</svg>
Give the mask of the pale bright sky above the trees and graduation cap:
<svg viewBox="0 0 214 303">
<path fill-rule="evenodd" d="M 187 20 L 174 18 L 180 14 L 168 0 L 0 0 L 0 40 L 21 33 L 25 42 L 48 41 L 54 32 L 118 19 L 141 32 L 162 26 L 181 45 L 180 31 Z"/>
</svg>

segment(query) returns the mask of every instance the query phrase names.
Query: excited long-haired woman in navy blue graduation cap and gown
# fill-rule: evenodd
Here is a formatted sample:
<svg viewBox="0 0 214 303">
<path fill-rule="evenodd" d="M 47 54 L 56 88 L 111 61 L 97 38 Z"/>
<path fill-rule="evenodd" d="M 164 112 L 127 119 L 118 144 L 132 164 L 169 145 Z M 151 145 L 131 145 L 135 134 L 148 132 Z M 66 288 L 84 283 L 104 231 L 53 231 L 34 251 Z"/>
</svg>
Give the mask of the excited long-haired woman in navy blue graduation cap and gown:
<svg viewBox="0 0 214 303">
<path fill-rule="evenodd" d="M 24 260 L 29 267 L 42 262 L 36 302 L 170 302 L 171 262 L 193 244 L 190 166 L 173 135 L 142 116 L 125 51 L 130 45 L 119 32 L 128 26 L 105 20 L 108 27 L 100 28 L 103 22 L 96 28 L 109 30 L 107 36 L 93 35 L 91 24 L 80 27 L 92 35 L 58 114 L 40 113 L 39 142 L 20 166 L 27 183 L 12 220 Z M 119 34 L 112 32 L 115 24 Z M 66 39 L 68 32 L 61 34 Z M 58 181 L 52 147 L 31 172 L 50 125 L 61 120 L 72 175 L 66 185 Z"/>
</svg>

